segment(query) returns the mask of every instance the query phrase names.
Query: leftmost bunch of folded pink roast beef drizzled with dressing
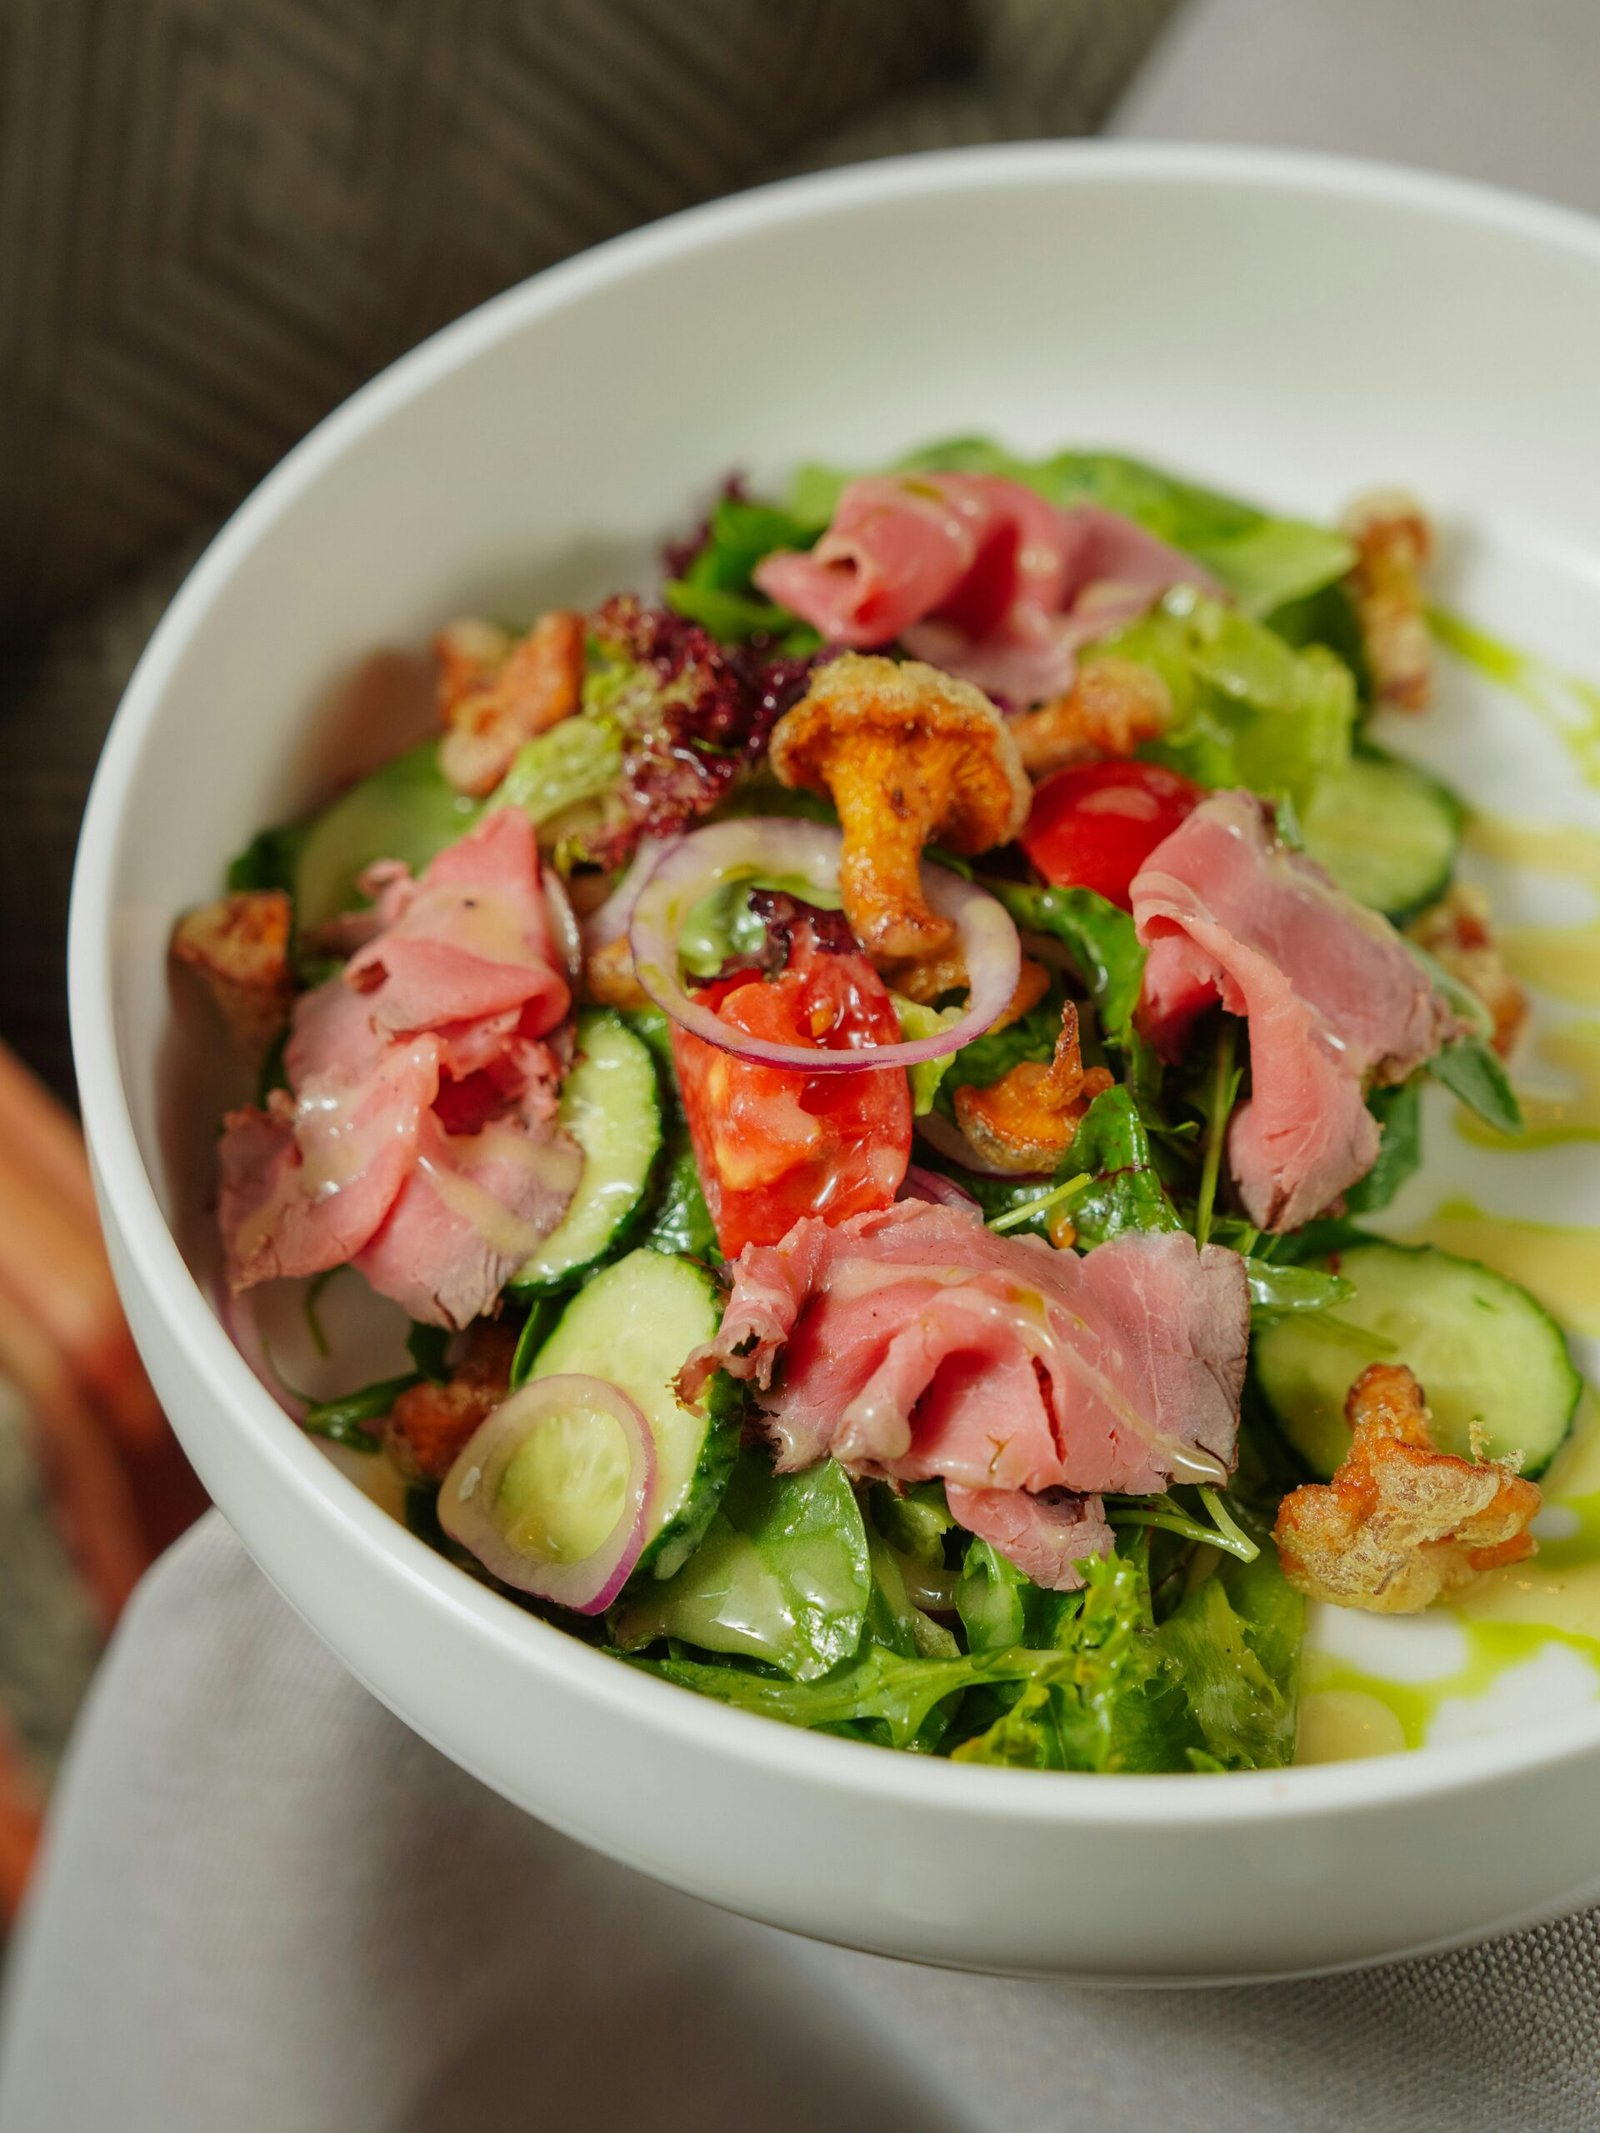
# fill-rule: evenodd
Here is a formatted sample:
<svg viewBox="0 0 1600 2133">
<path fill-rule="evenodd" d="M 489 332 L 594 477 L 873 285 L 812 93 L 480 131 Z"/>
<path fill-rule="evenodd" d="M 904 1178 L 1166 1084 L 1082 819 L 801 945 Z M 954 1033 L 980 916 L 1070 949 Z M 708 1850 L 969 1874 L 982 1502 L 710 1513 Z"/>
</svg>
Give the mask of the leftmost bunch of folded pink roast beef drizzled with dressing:
<svg viewBox="0 0 1600 2133">
<path fill-rule="evenodd" d="M 501 808 L 420 881 L 375 892 L 365 943 L 301 996 L 288 1090 L 226 1120 L 228 1278 L 356 1263 L 461 1327 L 561 1220 L 580 1156 L 555 1128 L 570 1005 L 527 817 Z"/>
</svg>

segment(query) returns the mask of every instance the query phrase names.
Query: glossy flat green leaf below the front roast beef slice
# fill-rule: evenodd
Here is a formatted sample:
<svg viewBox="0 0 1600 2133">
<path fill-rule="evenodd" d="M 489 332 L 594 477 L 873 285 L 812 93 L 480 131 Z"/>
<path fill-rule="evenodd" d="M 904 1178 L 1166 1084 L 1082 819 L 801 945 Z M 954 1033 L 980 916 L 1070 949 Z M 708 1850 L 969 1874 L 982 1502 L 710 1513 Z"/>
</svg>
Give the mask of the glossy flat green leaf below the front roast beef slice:
<svg viewBox="0 0 1600 2133">
<path fill-rule="evenodd" d="M 860 1645 L 870 1595 L 866 1525 L 845 1470 L 823 1459 L 774 1474 L 751 1446 L 695 1553 L 625 1595 L 610 1634 L 623 1651 L 674 1638 L 817 1681 Z"/>
</svg>

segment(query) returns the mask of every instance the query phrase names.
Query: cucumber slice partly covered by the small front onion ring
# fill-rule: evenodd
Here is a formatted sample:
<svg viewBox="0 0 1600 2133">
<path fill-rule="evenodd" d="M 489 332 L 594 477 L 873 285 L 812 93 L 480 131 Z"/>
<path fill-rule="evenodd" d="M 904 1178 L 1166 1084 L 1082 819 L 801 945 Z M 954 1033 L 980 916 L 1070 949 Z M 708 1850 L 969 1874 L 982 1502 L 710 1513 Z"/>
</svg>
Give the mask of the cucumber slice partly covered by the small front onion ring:
<svg viewBox="0 0 1600 2133">
<path fill-rule="evenodd" d="M 642 1410 L 655 1438 L 649 1538 L 634 1576 L 670 1578 L 693 1555 L 738 1453 L 742 1397 L 721 1372 L 698 1408 L 672 1380 L 689 1350 L 715 1340 L 723 1293 L 689 1258 L 638 1250 L 602 1267 L 561 1312 L 531 1378 L 582 1372 L 608 1378 Z"/>
</svg>

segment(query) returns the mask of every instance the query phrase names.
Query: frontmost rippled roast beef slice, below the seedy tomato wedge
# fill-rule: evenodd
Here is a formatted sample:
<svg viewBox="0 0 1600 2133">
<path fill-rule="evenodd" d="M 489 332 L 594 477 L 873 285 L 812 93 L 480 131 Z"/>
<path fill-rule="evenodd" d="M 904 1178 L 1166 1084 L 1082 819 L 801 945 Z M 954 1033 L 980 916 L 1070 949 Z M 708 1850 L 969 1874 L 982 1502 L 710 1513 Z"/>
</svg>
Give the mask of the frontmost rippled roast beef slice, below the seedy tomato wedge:
<svg viewBox="0 0 1600 2133">
<path fill-rule="evenodd" d="M 740 1252 L 678 1382 L 749 1380 L 783 1468 L 1146 1491 L 1231 1468 L 1246 1337 L 1244 1263 L 1218 1246 L 1124 1235 L 1079 1258 L 900 1201 Z"/>
</svg>

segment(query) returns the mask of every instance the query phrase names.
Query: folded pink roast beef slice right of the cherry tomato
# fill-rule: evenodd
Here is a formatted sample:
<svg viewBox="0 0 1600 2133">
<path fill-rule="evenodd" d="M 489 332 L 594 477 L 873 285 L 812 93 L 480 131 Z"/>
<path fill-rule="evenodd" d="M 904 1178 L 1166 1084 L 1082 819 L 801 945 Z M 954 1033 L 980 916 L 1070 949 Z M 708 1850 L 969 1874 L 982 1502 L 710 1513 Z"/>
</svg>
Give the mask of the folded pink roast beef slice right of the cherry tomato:
<svg viewBox="0 0 1600 2133">
<path fill-rule="evenodd" d="M 1395 928 L 1280 845 L 1254 793 L 1201 802 L 1131 894 L 1143 1032 L 1171 1058 L 1207 1005 L 1246 1017 L 1229 1171 L 1259 1229 L 1297 1229 L 1372 1169 L 1367 1084 L 1404 1081 L 1457 1022 Z"/>
</svg>

